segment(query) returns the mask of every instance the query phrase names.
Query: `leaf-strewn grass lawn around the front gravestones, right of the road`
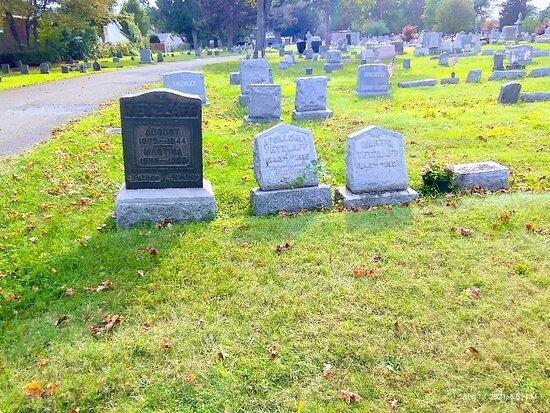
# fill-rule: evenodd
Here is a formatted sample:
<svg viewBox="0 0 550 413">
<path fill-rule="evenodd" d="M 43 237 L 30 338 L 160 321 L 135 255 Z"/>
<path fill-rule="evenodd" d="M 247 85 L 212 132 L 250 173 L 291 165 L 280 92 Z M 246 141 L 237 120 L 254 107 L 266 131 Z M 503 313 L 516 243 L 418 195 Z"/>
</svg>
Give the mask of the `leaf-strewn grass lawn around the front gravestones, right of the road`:
<svg viewBox="0 0 550 413">
<path fill-rule="evenodd" d="M 390 98 L 357 98 L 350 63 L 331 75 L 334 117 L 294 123 L 313 130 L 324 181 L 344 183 L 346 136 L 376 124 L 404 134 L 413 188 L 432 160 L 491 159 L 509 192 L 253 217 L 252 141 L 269 125 L 243 123 L 236 63 L 205 68 L 213 222 L 115 229 L 116 102 L 4 160 L 0 411 L 548 411 L 550 105 L 499 105 L 491 56 L 456 67 L 462 81 L 482 68 L 479 85 L 398 89 L 450 73 L 402 58 Z M 285 122 L 308 65 L 321 73 L 273 65 Z"/>
</svg>

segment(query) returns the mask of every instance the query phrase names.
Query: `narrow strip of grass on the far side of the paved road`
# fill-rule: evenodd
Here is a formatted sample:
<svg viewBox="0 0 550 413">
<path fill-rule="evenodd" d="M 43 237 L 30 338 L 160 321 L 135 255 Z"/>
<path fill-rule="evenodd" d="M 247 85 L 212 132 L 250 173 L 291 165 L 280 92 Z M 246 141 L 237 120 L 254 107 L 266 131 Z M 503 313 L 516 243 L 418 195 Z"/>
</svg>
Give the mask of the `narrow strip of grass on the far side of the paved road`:
<svg viewBox="0 0 550 413">
<path fill-rule="evenodd" d="M 227 56 L 227 55 L 229 55 L 229 53 L 227 52 L 220 53 L 220 56 Z M 214 57 L 214 56 L 213 55 L 208 56 L 206 54 L 206 51 L 204 51 L 200 58 L 207 58 L 207 57 Z M 156 53 L 153 53 L 153 58 L 156 62 L 156 59 L 157 59 Z M 180 62 L 180 61 L 191 60 L 195 58 L 196 57 L 194 54 L 188 55 L 187 53 L 174 52 L 173 57 L 171 56 L 171 53 L 166 53 L 164 57 L 164 61 Z M 101 63 L 102 71 L 125 69 L 128 67 L 135 67 L 140 65 L 139 56 L 136 56 L 135 60 L 132 60 L 130 56 L 123 57 L 122 59 L 120 59 L 119 63 L 113 63 L 113 59 L 98 59 L 98 61 Z M 41 74 L 40 69 L 38 67 L 31 67 L 30 74 L 28 75 L 21 75 L 19 72 L 15 72 L 13 70 L 8 75 L 0 73 L 0 78 L 2 78 L 2 81 L 0 82 L 0 91 L 35 85 L 39 83 L 53 82 L 55 80 L 68 79 L 71 77 L 93 74 L 96 72 L 92 70 L 92 63 L 93 61 L 90 60 L 90 62 L 88 63 L 89 68 L 86 73 L 80 73 L 80 72 L 69 72 L 66 74 L 61 73 L 62 64 L 60 63 L 53 65 L 52 69 L 50 70 L 50 73 L 47 75 Z"/>
</svg>

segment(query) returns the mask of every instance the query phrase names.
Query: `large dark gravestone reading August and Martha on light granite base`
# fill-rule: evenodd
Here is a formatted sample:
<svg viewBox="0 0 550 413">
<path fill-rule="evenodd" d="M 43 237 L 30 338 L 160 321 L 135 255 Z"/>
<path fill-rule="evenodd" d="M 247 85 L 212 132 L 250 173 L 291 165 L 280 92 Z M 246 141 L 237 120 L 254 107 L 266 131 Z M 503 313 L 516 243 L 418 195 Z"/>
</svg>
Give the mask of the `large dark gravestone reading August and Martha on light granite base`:
<svg viewBox="0 0 550 413">
<path fill-rule="evenodd" d="M 203 178 L 202 102 L 158 89 L 120 99 L 125 184 L 116 224 L 213 219 L 212 186 Z"/>
</svg>

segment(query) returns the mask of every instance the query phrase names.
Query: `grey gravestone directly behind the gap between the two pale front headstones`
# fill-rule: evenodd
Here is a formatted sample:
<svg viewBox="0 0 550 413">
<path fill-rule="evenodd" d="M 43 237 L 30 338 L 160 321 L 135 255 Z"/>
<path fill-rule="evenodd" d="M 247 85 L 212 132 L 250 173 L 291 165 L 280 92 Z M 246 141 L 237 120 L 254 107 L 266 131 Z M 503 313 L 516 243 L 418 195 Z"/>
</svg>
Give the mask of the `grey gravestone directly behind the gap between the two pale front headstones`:
<svg viewBox="0 0 550 413">
<path fill-rule="evenodd" d="M 332 116 L 327 108 L 327 78 L 325 76 L 296 79 L 294 120 L 325 119 Z"/>
</svg>

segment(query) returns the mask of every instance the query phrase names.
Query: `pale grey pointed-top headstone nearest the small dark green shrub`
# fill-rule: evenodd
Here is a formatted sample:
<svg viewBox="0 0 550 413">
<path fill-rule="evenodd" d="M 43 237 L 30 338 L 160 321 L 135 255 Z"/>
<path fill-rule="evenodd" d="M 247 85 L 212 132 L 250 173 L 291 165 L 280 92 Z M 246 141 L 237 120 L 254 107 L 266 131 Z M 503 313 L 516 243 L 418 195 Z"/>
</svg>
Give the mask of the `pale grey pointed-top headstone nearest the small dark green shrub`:
<svg viewBox="0 0 550 413">
<path fill-rule="evenodd" d="M 336 189 L 345 208 L 407 204 L 417 197 L 408 187 L 403 136 L 378 126 L 348 136 L 346 186 Z"/>
</svg>

